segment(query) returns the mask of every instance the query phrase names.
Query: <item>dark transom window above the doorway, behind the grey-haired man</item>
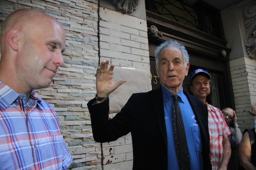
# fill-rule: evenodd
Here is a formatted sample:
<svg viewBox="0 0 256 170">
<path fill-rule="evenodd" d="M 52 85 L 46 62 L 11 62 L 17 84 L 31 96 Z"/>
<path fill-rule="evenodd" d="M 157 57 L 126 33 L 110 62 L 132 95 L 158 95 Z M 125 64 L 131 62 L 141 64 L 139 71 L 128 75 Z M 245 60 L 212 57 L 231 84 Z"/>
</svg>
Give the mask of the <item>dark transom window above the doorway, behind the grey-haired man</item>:
<svg viewBox="0 0 256 170">
<path fill-rule="evenodd" d="M 221 37 L 221 17 L 217 9 L 198 1 L 193 6 L 180 0 L 146 0 L 148 11 L 160 14 L 174 22 Z"/>
</svg>

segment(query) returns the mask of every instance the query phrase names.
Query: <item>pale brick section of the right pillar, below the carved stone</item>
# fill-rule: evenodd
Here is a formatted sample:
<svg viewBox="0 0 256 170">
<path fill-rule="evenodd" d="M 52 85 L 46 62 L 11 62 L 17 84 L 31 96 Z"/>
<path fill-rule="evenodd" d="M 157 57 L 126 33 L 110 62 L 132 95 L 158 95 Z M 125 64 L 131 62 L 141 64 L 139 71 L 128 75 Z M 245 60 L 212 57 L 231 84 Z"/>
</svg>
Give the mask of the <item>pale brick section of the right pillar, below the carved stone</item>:
<svg viewBox="0 0 256 170">
<path fill-rule="evenodd" d="M 249 112 L 256 104 L 256 60 L 241 57 L 230 61 L 236 113 L 241 130 L 254 127 L 254 116 Z"/>
</svg>

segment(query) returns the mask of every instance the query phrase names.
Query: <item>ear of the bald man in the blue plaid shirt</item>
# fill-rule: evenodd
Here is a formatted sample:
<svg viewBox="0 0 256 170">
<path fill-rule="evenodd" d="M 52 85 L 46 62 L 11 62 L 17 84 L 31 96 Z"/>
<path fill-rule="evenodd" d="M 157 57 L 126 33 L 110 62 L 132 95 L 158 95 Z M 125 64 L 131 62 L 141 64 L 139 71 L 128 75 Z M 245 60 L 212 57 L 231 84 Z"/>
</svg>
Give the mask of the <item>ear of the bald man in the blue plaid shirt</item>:
<svg viewBox="0 0 256 170">
<path fill-rule="evenodd" d="M 20 30 L 18 30 L 17 28 L 11 28 L 7 33 L 7 41 L 14 51 L 17 51 L 19 49 L 19 40 Z"/>
</svg>

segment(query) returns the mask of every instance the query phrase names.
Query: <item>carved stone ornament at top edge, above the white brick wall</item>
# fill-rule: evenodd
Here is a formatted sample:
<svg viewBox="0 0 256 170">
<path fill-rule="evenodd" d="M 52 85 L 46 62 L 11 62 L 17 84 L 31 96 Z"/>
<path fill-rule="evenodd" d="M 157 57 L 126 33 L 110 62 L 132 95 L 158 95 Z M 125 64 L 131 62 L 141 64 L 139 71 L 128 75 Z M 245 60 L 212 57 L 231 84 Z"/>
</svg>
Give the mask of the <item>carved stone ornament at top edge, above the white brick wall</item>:
<svg viewBox="0 0 256 170">
<path fill-rule="evenodd" d="M 113 3 L 116 4 L 117 10 L 130 14 L 136 10 L 138 0 L 113 0 Z"/>
</svg>

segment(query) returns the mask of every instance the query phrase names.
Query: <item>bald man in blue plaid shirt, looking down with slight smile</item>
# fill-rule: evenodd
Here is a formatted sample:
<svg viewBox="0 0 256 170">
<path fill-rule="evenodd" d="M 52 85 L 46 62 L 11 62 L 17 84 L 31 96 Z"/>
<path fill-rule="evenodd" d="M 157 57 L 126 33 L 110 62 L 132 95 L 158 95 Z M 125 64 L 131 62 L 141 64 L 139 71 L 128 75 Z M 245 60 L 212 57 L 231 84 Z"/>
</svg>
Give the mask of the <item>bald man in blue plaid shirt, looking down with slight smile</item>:
<svg viewBox="0 0 256 170">
<path fill-rule="evenodd" d="M 64 64 L 66 35 L 34 9 L 10 14 L 1 28 L 0 169 L 67 169 L 72 157 L 58 116 L 34 89 L 49 87 Z"/>
</svg>

